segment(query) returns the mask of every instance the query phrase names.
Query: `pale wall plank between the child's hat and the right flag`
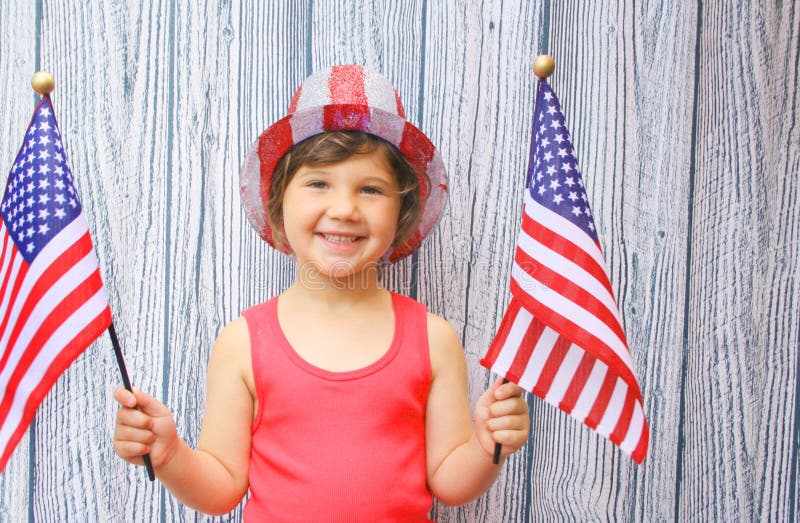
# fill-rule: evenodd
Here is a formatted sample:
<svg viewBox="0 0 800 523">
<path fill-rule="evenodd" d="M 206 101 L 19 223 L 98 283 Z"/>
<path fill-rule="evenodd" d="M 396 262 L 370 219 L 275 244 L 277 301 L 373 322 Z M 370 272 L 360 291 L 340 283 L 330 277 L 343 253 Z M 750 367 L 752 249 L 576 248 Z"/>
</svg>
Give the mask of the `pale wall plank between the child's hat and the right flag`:
<svg viewBox="0 0 800 523">
<path fill-rule="evenodd" d="M 422 128 L 450 176 L 449 201 L 420 251 L 420 300 L 445 317 L 467 354 L 474 404 L 492 378 L 478 364 L 508 302 L 533 115 L 532 55 L 541 5 L 429 2 Z M 525 521 L 530 446 L 485 496 L 437 504 L 439 521 Z"/>
</svg>

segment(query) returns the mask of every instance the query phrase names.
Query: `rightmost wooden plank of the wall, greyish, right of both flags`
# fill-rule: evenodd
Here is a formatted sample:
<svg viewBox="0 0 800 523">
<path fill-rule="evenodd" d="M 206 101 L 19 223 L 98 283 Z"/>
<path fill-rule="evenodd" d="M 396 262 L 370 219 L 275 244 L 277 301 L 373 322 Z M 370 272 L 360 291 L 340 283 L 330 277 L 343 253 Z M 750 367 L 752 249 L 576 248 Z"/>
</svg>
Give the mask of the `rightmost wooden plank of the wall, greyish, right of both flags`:
<svg viewBox="0 0 800 523">
<path fill-rule="evenodd" d="M 728 7 L 702 13 L 680 515 L 788 520 L 798 20 L 792 3 Z"/>
</svg>

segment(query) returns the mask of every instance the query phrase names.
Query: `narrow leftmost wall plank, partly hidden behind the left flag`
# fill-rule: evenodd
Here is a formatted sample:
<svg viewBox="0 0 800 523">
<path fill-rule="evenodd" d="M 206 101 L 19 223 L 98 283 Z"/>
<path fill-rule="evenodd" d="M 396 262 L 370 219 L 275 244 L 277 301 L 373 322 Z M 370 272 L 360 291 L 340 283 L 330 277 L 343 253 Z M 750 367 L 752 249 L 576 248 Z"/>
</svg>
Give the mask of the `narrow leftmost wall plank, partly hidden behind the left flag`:
<svg viewBox="0 0 800 523">
<path fill-rule="evenodd" d="M 37 57 L 36 46 L 30 45 L 30 35 L 35 33 L 36 8 L 32 2 L 4 5 L 0 9 L 0 180 L 3 182 L 33 113 L 36 97 L 30 80 L 36 72 Z M 28 516 L 33 494 L 30 461 L 35 458 L 31 455 L 31 443 L 28 431 L 0 473 L 0 521 Z"/>
</svg>

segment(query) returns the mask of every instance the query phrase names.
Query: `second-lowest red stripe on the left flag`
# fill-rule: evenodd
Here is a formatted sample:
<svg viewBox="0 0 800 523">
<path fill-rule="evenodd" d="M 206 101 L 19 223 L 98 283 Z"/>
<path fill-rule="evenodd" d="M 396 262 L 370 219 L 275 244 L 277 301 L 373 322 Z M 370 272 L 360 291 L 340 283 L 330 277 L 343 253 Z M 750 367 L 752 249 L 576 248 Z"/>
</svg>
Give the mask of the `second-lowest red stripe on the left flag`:
<svg viewBox="0 0 800 523">
<path fill-rule="evenodd" d="M 53 335 L 53 332 L 80 308 L 81 305 L 86 303 L 89 298 L 97 294 L 97 291 L 102 287 L 103 281 L 100 278 L 100 271 L 95 270 L 86 280 L 55 305 L 50 314 L 42 321 L 41 325 L 36 330 L 36 334 L 33 335 L 31 341 L 25 347 L 25 352 L 17 362 L 16 367 L 14 367 L 14 372 L 11 374 L 11 378 L 8 381 L 6 396 L 3 398 L 2 402 L 0 402 L 0 425 L 5 423 L 19 382 L 25 376 L 25 373 L 28 372 L 31 364 L 36 359 L 36 356 L 39 355 L 45 343 L 47 343 Z"/>
</svg>

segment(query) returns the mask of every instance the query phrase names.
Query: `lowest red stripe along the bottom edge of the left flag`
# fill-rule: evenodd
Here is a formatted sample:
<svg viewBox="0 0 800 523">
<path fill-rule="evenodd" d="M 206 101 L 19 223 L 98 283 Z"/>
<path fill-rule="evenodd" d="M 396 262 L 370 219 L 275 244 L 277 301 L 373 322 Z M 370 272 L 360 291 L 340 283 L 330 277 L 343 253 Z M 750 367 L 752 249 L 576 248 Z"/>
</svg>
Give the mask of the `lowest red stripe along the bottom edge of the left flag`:
<svg viewBox="0 0 800 523">
<path fill-rule="evenodd" d="M 17 425 L 16 430 L 11 434 L 8 444 L 5 449 L 0 449 L 0 470 L 5 468 L 6 463 L 14 449 L 17 447 L 19 440 L 28 430 L 33 417 L 36 415 L 36 409 L 41 405 L 47 393 L 52 388 L 53 384 L 58 380 L 59 376 L 64 373 L 75 359 L 86 349 L 87 345 L 97 339 L 100 334 L 111 324 L 111 311 L 106 307 L 102 313 L 94 318 L 86 325 L 64 348 L 60 351 L 59 355 L 53 360 L 53 363 L 45 372 L 42 381 L 36 388 L 31 391 L 28 401 L 25 403 L 25 409 Z M 88 340 L 88 341 L 87 341 Z"/>
</svg>

